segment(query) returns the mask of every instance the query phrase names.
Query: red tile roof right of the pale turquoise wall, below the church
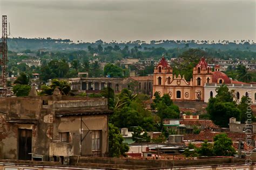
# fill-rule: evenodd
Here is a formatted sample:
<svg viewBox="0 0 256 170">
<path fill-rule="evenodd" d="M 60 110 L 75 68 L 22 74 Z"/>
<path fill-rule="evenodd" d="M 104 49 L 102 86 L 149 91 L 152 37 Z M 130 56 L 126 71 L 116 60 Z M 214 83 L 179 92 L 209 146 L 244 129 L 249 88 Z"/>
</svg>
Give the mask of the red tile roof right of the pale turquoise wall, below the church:
<svg viewBox="0 0 256 170">
<path fill-rule="evenodd" d="M 197 121 L 189 121 L 189 120 L 183 120 L 183 121 L 179 121 L 180 124 L 184 124 L 184 125 L 191 125 L 191 126 L 203 126 L 204 129 L 218 129 L 219 127 L 217 125 L 215 125 L 211 120 L 197 120 Z"/>
</svg>

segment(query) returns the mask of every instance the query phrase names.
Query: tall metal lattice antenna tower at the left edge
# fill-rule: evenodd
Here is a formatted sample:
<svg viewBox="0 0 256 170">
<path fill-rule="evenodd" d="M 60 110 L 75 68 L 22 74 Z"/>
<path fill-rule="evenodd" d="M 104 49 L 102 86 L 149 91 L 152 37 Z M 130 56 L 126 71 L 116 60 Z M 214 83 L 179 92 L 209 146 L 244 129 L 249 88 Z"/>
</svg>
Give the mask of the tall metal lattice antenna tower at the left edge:
<svg viewBox="0 0 256 170">
<path fill-rule="evenodd" d="M 7 95 L 7 76 L 8 74 L 6 73 L 6 67 L 7 67 L 7 53 L 8 53 L 8 48 L 7 48 L 7 16 L 2 16 L 2 96 L 6 97 Z"/>
</svg>

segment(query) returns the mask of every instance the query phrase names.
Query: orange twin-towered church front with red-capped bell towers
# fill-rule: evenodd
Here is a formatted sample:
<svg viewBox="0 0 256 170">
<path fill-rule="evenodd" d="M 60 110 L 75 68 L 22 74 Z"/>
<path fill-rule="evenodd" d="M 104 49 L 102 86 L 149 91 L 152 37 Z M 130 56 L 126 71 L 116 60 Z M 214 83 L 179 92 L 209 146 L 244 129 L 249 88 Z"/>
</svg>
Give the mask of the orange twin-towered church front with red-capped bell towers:
<svg viewBox="0 0 256 170">
<path fill-rule="evenodd" d="M 184 76 L 172 74 L 171 66 L 163 57 L 154 68 L 153 94 L 158 91 L 160 96 L 169 94 L 172 100 L 204 101 L 204 84 L 212 83 L 212 71 L 204 58 L 193 68 L 193 79 L 190 82 Z"/>
</svg>

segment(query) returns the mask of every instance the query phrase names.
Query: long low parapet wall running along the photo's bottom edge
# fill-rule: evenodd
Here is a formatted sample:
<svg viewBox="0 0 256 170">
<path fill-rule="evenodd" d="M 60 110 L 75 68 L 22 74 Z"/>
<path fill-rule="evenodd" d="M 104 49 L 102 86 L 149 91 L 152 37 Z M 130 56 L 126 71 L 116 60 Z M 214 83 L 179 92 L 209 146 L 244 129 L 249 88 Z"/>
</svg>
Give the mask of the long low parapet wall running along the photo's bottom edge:
<svg viewBox="0 0 256 170">
<path fill-rule="evenodd" d="M 78 159 L 79 158 L 79 159 Z M 207 158 L 198 160 L 136 160 L 120 158 L 102 158 L 102 157 L 71 157 L 72 164 L 61 165 L 60 162 L 49 161 L 23 161 L 23 160 L 1 160 L 0 169 L 5 167 L 11 169 L 84 169 L 84 168 L 106 168 L 106 169 L 254 169 L 255 162 L 252 165 L 246 165 L 245 159 L 236 158 Z M 174 164 L 174 165 L 173 165 Z"/>
</svg>

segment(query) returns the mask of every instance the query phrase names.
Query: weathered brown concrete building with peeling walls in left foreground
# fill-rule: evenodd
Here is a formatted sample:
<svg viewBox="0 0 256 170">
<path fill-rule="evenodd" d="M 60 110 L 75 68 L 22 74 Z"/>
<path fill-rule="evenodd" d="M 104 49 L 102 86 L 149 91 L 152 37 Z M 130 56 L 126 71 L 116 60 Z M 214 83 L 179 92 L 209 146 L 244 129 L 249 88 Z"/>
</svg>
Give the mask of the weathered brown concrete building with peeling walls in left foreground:
<svg viewBox="0 0 256 170">
<path fill-rule="evenodd" d="M 0 98 L 0 159 L 107 155 L 111 112 L 106 98 Z"/>
</svg>

